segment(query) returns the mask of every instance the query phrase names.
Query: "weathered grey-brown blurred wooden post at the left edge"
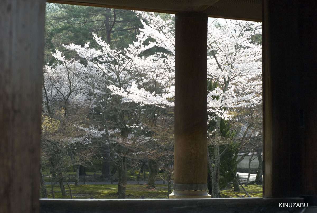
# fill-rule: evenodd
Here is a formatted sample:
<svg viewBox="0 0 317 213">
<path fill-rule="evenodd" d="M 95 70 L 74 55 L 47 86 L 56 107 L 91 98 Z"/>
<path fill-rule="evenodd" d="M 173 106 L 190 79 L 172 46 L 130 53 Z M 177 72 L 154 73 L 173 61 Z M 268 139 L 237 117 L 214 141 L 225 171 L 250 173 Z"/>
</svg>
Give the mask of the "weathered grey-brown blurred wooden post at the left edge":
<svg viewBox="0 0 317 213">
<path fill-rule="evenodd" d="M 45 1 L 0 1 L 0 212 L 38 212 Z"/>
</svg>

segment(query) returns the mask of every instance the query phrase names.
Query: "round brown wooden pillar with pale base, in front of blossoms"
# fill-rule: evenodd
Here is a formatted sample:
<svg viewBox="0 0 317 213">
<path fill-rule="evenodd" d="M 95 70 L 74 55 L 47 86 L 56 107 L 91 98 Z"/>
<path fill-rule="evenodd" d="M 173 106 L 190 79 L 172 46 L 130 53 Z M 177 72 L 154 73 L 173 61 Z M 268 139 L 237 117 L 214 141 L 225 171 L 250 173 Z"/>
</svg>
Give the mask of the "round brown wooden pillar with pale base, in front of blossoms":
<svg viewBox="0 0 317 213">
<path fill-rule="evenodd" d="M 207 15 L 175 16 L 174 190 L 170 198 L 207 193 Z"/>
</svg>

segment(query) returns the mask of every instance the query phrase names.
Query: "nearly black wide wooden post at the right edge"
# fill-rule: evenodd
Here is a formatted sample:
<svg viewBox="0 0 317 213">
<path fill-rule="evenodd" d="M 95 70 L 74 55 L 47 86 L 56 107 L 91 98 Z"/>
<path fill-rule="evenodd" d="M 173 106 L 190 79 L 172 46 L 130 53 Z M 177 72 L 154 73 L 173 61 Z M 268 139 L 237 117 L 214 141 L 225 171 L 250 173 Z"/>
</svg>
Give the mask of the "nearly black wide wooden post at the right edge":
<svg viewBox="0 0 317 213">
<path fill-rule="evenodd" d="M 316 20 L 314 3 L 263 1 L 263 197 L 317 196 Z"/>
</svg>

